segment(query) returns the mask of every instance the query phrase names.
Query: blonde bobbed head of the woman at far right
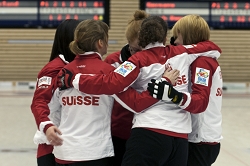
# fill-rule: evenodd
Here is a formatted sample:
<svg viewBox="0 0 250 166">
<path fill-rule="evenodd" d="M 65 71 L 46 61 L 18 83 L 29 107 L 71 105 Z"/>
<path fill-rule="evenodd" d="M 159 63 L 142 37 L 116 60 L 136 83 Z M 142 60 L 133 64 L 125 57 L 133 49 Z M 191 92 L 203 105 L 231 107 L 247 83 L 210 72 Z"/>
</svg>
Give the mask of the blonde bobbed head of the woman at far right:
<svg viewBox="0 0 250 166">
<path fill-rule="evenodd" d="M 209 26 L 199 15 L 187 15 L 178 20 L 172 28 L 173 36 L 177 37 L 180 33 L 183 44 L 196 44 L 201 41 L 209 40 Z"/>
</svg>

